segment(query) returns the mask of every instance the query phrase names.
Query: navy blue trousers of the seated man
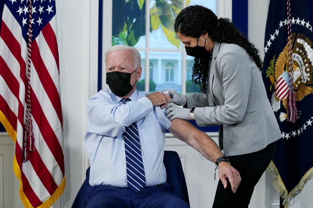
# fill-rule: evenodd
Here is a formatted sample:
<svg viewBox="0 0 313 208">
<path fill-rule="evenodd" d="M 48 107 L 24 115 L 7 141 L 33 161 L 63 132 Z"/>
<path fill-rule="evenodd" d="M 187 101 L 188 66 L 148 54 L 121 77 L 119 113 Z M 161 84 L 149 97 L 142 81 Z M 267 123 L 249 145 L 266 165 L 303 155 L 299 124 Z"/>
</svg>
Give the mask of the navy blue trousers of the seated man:
<svg viewBox="0 0 313 208">
<path fill-rule="evenodd" d="M 138 193 L 130 188 L 106 185 L 90 186 L 87 188 L 86 208 L 189 208 L 185 201 L 168 191 L 168 183 L 162 186 L 145 186 Z"/>
</svg>

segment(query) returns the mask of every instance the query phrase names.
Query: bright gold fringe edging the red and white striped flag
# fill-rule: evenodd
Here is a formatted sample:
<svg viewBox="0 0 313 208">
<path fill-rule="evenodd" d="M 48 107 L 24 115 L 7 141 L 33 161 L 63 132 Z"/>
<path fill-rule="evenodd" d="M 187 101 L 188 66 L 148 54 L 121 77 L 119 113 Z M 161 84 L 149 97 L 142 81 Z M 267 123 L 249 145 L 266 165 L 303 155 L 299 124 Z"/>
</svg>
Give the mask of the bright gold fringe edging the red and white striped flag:
<svg viewBox="0 0 313 208">
<path fill-rule="evenodd" d="M 3 124 L 5 130 L 7 131 L 8 135 L 12 138 L 14 143 L 16 143 L 16 131 L 12 127 L 12 125 L 9 123 L 7 117 L 0 111 L 0 122 Z M 30 204 L 28 201 L 28 198 L 26 197 L 24 191 L 23 191 L 23 182 L 22 182 L 22 176 L 21 176 L 21 169 L 18 166 L 18 162 L 16 161 L 16 157 L 14 155 L 13 159 L 13 172 L 15 173 L 15 176 L 18 178 L 18 181 L 20 183 L 20 188 L 19 188 L 19 196 L 21 198 L 21 201 L 25 208 L 33 208 L 33 206 Z M 54 193 L 41 204 L 37 208 L 49 208 L 51 207 L 55 201 L 59 199 L 59 197 L 63 194 L 64 192 L 64 187 L 65 187 L 65 176 L 63 177 L 63 180 L 59 187 L 54 191 Z"/>
</svg>

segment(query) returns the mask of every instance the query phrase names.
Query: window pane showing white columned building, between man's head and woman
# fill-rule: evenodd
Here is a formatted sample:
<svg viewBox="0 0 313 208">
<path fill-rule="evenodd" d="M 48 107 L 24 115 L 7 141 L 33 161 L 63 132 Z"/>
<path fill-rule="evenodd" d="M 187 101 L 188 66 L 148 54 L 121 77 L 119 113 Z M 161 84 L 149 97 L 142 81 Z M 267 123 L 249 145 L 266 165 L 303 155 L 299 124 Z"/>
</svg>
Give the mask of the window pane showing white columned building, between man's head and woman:
<svg viewBox="0 0 313 208">
<path fill-rule="evenodd" d="M 153 65 L 153 79 L 150 81 L 150 91 L 174 89 L 182 91 L 182 53 L 181 52 L 150 52 L 150 62 Z"/>
</svg>

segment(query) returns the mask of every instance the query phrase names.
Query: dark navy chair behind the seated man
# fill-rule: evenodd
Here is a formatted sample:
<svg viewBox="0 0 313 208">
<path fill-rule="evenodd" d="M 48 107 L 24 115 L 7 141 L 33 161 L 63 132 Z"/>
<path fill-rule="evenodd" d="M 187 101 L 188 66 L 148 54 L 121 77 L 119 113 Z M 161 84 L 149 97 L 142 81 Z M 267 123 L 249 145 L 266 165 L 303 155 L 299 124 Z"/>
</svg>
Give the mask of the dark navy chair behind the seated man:
<svg viewBox="0 0 313 208">
<path fill-rule="evenodd" d="M 177 152 L 164 151 L 163 163 L 167 174 L 166 182 L 170 185 L 170 192 L 189 204 L 186 180 Z M 89 171 L 90 167 L 86 170 L 86 179 L 75 197 L 72 208 L 85 208 L 87 204 L 86 189 L 90 186 Z"/>
</svg>

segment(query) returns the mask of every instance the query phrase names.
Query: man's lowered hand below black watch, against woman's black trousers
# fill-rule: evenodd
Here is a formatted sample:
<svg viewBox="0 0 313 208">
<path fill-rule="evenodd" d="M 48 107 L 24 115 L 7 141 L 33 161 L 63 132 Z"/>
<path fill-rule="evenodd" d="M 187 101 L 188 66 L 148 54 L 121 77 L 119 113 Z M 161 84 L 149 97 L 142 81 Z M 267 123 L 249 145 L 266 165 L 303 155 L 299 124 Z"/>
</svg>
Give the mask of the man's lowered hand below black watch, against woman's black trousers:
<svg viewBox="0 0 313 208">
<path fill-rule="evenodd" d="M 229 162 L 222 161 L 218 164 L 218 175 L 224 188 L 227 187 L 226 178 L 228 178 L 232 191 L 235 193 L 241 181 L 239 172 Z"/>
</svg>

